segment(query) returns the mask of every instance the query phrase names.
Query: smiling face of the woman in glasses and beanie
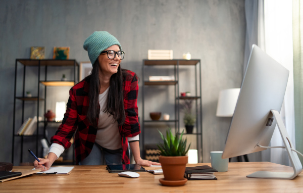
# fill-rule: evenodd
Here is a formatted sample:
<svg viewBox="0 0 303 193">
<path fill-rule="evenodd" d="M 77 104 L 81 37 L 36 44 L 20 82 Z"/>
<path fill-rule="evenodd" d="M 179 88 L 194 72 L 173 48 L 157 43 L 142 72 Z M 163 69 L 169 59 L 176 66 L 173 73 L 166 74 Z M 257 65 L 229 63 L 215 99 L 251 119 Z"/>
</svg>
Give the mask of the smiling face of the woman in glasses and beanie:
<svg viewBox="0 0 303 193">
<path fill-rule="evenodd" d="M 112 45 L 105 51 L 120 51 L 120 47 L 118 45 Z M 114 59 L 109 59 L 107 53 L 103 53 L 98 57 L 99 62 L 99 73 L 105 76 L 112 76 L 113 74 L 118 72 L 118 67 L 120 65 L 121 60 L 118 55 Z"/>
</svg>

